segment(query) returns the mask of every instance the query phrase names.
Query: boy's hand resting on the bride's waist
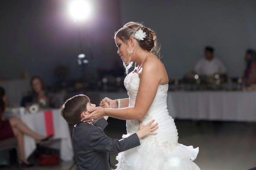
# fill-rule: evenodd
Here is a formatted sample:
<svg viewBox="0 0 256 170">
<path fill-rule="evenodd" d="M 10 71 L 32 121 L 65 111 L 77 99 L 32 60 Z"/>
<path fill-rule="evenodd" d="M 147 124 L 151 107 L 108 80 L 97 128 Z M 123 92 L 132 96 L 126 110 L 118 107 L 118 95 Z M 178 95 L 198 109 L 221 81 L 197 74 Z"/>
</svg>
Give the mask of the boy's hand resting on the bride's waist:
<svg viewBox="0 0 256 170">
<path fill-rule="evenodd" d="M 142 125 L 141 122 L 140 123 L 140 130 L 138 130 L 137 136 L 139 137 L 139 139 L 142 139 L 144 136 L 148 136 L 148 135 L 157 135 L 156 132 L 153 132 L 154 130 L 158 129 L 158 123 L 155 123 L 154 125 L 152 125 L 154 122 L 154 120 L 151 120 L 147 125 Z"/>
</svg>

